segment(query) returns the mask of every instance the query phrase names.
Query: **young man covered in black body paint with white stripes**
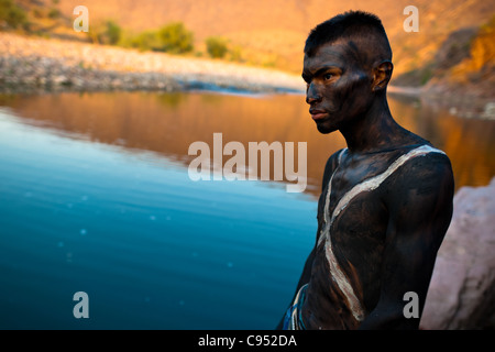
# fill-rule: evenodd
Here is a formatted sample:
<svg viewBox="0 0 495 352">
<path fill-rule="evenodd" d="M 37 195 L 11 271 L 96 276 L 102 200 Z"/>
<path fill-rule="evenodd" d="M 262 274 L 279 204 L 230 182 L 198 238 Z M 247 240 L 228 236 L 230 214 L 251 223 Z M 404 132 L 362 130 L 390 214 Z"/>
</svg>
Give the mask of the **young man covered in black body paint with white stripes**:
<svg viewBox="0 0 495 352">
<path fill-rule="evenodd" d="M 392 70 L 373 14 L 337 15 L 306 41 L 309 113 L 319 132 L 340 131 L 348 147 L 327 162 L 316 244 L 279 328 L 419 326 L 452 216 L 453 176 L 443 152 L 394 121 Z M 409 301 L 417 309 L 405 309 Z"/>
</svg>

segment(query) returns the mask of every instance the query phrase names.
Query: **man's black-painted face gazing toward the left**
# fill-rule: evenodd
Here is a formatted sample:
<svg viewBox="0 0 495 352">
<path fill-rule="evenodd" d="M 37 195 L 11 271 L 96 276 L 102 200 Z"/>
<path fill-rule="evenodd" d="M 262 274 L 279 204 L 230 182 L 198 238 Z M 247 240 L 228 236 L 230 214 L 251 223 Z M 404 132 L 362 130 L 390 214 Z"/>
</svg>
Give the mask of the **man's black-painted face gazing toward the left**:
<svg viewBox="0 0 495 352">
<path fill-rule="evenodd" d="M 318 131 L 330 133 L 362 117 L 373 100 L 366 55 L 352 41 L 322 45 L 305 56 L 306 102 Z"/>
</svg>

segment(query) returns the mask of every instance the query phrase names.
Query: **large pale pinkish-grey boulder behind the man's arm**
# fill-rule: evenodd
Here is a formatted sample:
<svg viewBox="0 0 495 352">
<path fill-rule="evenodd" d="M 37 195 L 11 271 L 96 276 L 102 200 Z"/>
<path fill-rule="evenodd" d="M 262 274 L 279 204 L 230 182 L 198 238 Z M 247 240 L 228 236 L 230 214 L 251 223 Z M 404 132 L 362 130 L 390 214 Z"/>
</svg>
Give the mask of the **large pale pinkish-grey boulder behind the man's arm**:
<svg viewBox="0 0 495 352">
<path fill-rule="evenodd" d="M 420 328 L 495 328 L 495 178 L 455 194 Z"/>
</svg>

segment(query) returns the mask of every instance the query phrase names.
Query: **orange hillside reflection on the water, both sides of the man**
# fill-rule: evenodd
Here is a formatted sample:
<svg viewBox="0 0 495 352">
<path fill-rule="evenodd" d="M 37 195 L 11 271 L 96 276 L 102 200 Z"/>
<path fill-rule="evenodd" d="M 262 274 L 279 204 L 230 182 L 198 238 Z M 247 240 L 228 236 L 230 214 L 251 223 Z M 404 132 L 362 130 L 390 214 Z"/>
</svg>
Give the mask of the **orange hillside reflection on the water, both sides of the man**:
<svg viewBox="0 0 495 352">
<path fill-rule="evenodd" d="M 328 156 L 344 147 L 339 133 L 321 135 L 301 96 L 239 96 L 213 92 L 99 92 L 0 96 L 25 121 L 72 139 L 142 150 L 188 165 L 190 143 L 212 148 L 215 132 L 223 144 L 239 141 L 308 143 L 307 193 L 318 196 Z M 495 122 L 462 119 L 433 110 L 417 100 L 391 97 L 396 120 L 444 150 L 450 156 L 457 188 L 486 185 L 495 175 Z M 227 161 L 224 157 L 223 162 Z"/>
</svg>

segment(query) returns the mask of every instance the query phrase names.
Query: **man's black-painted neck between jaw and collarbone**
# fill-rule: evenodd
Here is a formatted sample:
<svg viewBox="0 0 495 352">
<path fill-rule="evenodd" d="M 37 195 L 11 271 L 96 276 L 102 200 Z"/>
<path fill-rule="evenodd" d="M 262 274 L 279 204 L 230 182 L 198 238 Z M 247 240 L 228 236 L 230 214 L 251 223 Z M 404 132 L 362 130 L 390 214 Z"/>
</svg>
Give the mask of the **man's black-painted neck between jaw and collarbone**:
<svg viewBox="0 0 495 352">
<path fill-rule="evenodd" d="M 413 142 L 410 132 L 395 122 L 386 98 L 377 99 L 365 114 L 340 129 L 351 153 L 372 153 Z"/>
</svg>

